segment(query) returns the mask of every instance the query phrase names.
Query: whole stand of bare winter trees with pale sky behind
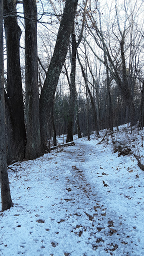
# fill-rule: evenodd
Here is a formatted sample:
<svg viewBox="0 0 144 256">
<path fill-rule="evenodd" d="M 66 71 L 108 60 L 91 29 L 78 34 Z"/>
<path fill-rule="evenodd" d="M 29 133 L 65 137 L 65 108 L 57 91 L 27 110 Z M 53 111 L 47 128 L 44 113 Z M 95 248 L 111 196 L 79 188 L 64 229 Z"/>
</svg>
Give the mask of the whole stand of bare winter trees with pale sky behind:
<svg viewBox="0 0 144 256">
<path fill-rule="evenodd" d="M 142 0 L 0 0 L 0 181 L 7 164 L 129 123 L 143 128 Z"/>
</svg>

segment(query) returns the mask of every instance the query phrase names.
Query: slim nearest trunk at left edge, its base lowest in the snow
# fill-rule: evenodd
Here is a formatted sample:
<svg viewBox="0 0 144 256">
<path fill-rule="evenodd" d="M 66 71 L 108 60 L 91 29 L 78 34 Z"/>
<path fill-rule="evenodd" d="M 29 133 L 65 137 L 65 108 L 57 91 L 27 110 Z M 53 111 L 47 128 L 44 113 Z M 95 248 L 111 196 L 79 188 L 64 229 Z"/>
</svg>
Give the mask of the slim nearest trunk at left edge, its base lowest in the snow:
<svg viewBox="0 0 144 256">
<path fill-rule="evenodd" d="M 3 75 L 3 0 L 0 0 L 0 189 L 1 210 L 12 206 L 7 174 L 5 145 L 5 107 L 4 107 L 4 75 Z"/>
</svg>

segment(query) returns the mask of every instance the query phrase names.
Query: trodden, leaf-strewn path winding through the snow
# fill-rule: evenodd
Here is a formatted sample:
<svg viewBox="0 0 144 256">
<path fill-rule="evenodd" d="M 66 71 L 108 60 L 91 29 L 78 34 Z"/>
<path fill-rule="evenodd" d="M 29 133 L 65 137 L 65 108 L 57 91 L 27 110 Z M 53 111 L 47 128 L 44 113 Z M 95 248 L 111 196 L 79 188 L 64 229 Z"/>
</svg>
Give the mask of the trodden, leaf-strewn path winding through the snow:
<svg viewBox="0 0 144 256">
<path fill-rule="evenodd" d="M 73 153 L 69 156 L 73 165 L 70 166 L 72 175 L 68 177 L 66 184 L 70 186 L 70 189 L 67 188 L 67 190 L 69 189 L 68 194 L 78 205 L 79 218 L 76 220 L 79 221 L 79 225 L 81 226 L 81 216 L 86 220 L 82 230 L 80 228 L 80 236 L 83 233 L 82 238 L 86 237 L 85 243 L 90 244 L 95 250 L 95 254 L 91 252 L 91 255 L 99 255 L 98 253 L 101 255 L 107 253 L 109 255 L 138 255 L 139 252 L 136 250 L 139 246 L 140 235 L 138 238 L 134 219 L 129 219 L 128 208 L 124 208 L 127 205 L 124 205 L 119 194 L 109 190 L 107 180 L 104 181 L 109 172 L 108 165 L 113 165 L 117 169 L 114 164 L 114 161 L 116 164 L 118 163 L 115 160 L 117 155 L 110 155 L 109 159 L 111 151 L 104 148 L 102 151 L 105 151 L 103 156 L 101 145 L 95 145 L 95 142 L 91 145 L 85 141 L 82 145 L 77 143 L 75 149 L 72 150 Z M 91 159 L 91 156 L 95 161 Z M 122 164 L 120 158 L 118 164 Z M 114 169 L 114 167 L 112 168 Z M 102 171 L 99 173 L 99 170 Z M 95 176 L 94 182 L 91 182 L 93 180 L 90 178 L 91 173 Z M 116 179 L 118 178 L 116 177 Z M 117 183 L 114 178 L 113 181 Z M 116 187 L 116 183 L 112 185 Z M 116 201 L 113 197 L 117 197 Z M 119 205 L 120 203 L 122 205 Z M 72 210 L 72 204 L 68 206 Z"/>
</svg>

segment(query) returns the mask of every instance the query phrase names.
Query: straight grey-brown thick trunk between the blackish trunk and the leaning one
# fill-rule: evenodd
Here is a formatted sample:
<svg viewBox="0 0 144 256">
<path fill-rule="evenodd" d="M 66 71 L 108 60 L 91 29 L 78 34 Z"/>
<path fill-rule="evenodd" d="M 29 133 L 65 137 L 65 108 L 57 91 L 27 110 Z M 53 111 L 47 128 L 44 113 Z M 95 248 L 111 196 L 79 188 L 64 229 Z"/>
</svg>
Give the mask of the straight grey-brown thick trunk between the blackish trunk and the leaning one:
<svg viewBox="0 0 144 256">
<path fill-rule="evenodd" d="M 37 66 L 37 7 L 35 0 L 23 0 L 25 26 L 25 105 L 27 143 L 25 158 L 42 155 L 39 126 Z"/>
</svg>

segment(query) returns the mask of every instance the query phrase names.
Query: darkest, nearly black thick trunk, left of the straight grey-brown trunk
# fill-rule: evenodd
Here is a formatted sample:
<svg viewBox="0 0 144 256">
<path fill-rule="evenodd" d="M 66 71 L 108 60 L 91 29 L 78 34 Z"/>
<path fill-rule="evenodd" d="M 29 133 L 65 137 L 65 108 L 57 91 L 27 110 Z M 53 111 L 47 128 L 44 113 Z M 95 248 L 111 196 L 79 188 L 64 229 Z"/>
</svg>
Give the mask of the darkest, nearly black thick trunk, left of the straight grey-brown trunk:
<svg viewBox="0 0 144 256">
<path fill-rule="evenodd" d="M 4 0 L 3 12 L 6 15 L 4 17 L 4 30 L 7 53 L 7 100 L 9 101 L 8 107 L 10 107 L 9 114 L 13 136 L 11 151 L 14 160 L 22 160 L 25 152 L 26 133 L 19 56 L 21 30 L 17 18 L 14 16 L 16 0 Z"/>
</svg>

